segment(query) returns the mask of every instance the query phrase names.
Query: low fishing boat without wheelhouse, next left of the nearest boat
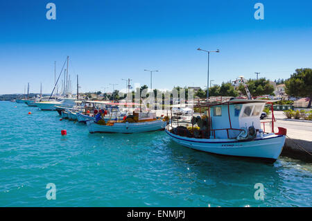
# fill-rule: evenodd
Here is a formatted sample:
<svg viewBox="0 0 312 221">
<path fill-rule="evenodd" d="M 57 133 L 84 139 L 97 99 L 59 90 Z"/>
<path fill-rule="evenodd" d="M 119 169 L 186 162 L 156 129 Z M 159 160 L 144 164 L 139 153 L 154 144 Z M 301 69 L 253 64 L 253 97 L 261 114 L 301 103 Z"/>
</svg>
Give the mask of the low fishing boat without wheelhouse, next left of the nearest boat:
<svg viewBox="0 0 312 221">
<path fill-rule="evenodd" d="M 102 123 L 101 123 L 102 121 Z M 107 133 L 123 133 L 132 134 L 139 132 L 152 132 L 164 130 L 167 121 L 156 118 L 152 113 L 135 113 L 135 115 L 127 116 L 123 121 L 87 121 L 87 127 L 90 133 L 107 132 Z"/>
</svg>

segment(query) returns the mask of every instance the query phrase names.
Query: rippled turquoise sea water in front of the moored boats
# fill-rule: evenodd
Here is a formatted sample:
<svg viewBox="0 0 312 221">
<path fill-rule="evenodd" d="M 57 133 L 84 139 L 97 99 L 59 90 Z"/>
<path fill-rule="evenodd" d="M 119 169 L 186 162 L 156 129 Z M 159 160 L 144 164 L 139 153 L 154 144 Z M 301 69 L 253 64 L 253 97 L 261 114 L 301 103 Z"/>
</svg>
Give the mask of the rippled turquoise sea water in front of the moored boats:
<svg viewBox="0 0 312 221">
<path fill-rule="evenodd" d="M 0 113 L 0 206 L 312 206 L 302 161 L 220 157 L 165 132 L 89 134 L 24 104 L 0 102 Z M 56 200 L 46 199 L 49 183 Z M 264 200 L 254 199 L 257 183 Z"/>
</svg>

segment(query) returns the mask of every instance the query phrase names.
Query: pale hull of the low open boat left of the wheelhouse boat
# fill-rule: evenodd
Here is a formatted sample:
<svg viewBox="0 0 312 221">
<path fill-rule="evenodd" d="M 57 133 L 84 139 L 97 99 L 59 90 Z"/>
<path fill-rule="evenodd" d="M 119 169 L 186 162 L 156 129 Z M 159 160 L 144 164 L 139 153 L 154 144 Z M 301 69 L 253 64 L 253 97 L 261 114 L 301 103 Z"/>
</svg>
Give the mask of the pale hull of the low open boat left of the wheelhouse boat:
<svg viewBox="0 0 312 221">
<path fill-rule="evenodd" d="M 87 126 L 90 133 L 103 132 L 132 134 L 164 130 L 166 127 L 166 121 L 162 121 L 161 119 L 159 119 L 155 121 L 146 121 L 140 123 L 114 123 L 114 125 L 99 125 L 96 124 L 94 121 L 87 121 Z"/>
</svg>

